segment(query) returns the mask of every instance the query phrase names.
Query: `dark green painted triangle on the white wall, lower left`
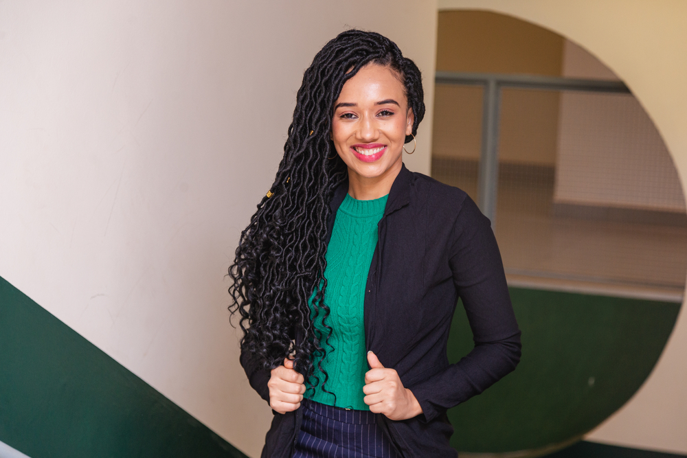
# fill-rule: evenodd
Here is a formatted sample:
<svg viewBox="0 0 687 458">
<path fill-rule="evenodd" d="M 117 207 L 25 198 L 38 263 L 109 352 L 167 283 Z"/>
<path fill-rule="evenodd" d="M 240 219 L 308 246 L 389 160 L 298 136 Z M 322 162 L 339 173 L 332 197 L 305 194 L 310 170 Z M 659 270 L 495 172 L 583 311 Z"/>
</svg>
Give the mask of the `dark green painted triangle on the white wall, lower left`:
<svg viewBox="0 0 687 458">
<path fill-rule="evenodd" d="M 0 441 L 31 458 L 246 456 L 1 277 Z"/>
</svg>

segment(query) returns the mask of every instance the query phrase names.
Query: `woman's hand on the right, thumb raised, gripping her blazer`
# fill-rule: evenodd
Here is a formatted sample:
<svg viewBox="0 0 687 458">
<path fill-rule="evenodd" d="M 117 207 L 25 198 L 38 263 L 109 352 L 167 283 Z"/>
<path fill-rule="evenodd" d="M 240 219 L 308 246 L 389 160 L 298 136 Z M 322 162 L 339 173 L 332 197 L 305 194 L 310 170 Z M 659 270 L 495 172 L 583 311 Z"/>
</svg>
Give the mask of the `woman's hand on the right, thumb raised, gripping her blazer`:
<svg viewBox="0 0 687 458">
<path fill-rule="evenodd" d="M 368 363 L 372 369 L 365 373 L 363 401 L 370 411 L 383 413 L 390 420 L 406 420 L 423 413 L 412 391 L 403 387 L 396 369 L 386 369 L 372 352 L 368 352 Z"/>
</svg>

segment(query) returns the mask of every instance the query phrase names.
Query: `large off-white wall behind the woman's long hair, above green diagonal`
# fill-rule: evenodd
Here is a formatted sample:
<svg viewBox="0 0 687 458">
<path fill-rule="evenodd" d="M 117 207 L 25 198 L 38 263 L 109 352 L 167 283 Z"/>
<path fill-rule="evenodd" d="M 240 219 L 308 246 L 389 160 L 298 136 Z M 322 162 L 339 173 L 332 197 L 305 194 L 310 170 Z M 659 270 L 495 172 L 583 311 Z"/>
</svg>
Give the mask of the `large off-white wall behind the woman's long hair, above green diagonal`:
<svg viewBox="0 0 687 458">
<path fill-rule="evenodd" d="M 258 456 L 224 275 L 274 177 L 295 91 L 349 26 L 425 72 L 433 1 L 0 2 L 0 276 Z"/>
</svg>

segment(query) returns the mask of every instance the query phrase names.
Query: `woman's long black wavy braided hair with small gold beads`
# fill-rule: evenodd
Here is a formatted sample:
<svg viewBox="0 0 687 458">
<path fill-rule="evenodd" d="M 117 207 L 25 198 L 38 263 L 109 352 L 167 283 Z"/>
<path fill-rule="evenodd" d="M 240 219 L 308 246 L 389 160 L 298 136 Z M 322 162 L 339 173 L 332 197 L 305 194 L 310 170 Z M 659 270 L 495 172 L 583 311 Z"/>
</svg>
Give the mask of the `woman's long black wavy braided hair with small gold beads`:
<svg viewBox="0 0 687 458">
<path fill-rule="evenodd" d="M 240 315 L 241 347 L 260 367 L 272 369 L 291 355 L 306 380 L 313 360 L 325 356 L 332 329 L 326 289 L 326 232 L 329 202 L 348 170 L 330 139 L 334 103 L 343 84 L 370 62 L 390 67 L 405 87 L 415 115 L 412 133 L 425 115 L 420 70 L 398 46 L 374 32 L 347 30 L 327 43 L 305 71 L 296 96 L 284 157 L 267 196 L 241 233 L 229 287 L 229 310 Z M 412 137 L 406 137 L 406 143 Z M 312 298 L 313 308 L 308 305 Z M 313 322 L 322 314 L 327 335 Z M 302 336 L 296 344 L 295 335 Z M 324 374 L 324 384 L 328 378 Z M 326 391 L 326 389 L 324 389 Z M 328 391 L 327 391 L 328 392 Z"/>
</svg>

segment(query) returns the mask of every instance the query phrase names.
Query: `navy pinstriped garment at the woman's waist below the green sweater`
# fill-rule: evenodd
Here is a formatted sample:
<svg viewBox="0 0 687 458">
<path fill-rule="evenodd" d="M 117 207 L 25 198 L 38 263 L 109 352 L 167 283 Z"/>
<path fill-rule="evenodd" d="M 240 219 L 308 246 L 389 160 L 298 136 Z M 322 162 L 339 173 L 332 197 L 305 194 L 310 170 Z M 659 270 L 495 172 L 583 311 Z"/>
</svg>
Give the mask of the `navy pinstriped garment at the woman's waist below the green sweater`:
<svg viewBox="0 0 687 458">
<path fill-rule="evenodd" d="M 303 400 L 293 458 L 401 458 L 370 411 Z"/>
</svg>

